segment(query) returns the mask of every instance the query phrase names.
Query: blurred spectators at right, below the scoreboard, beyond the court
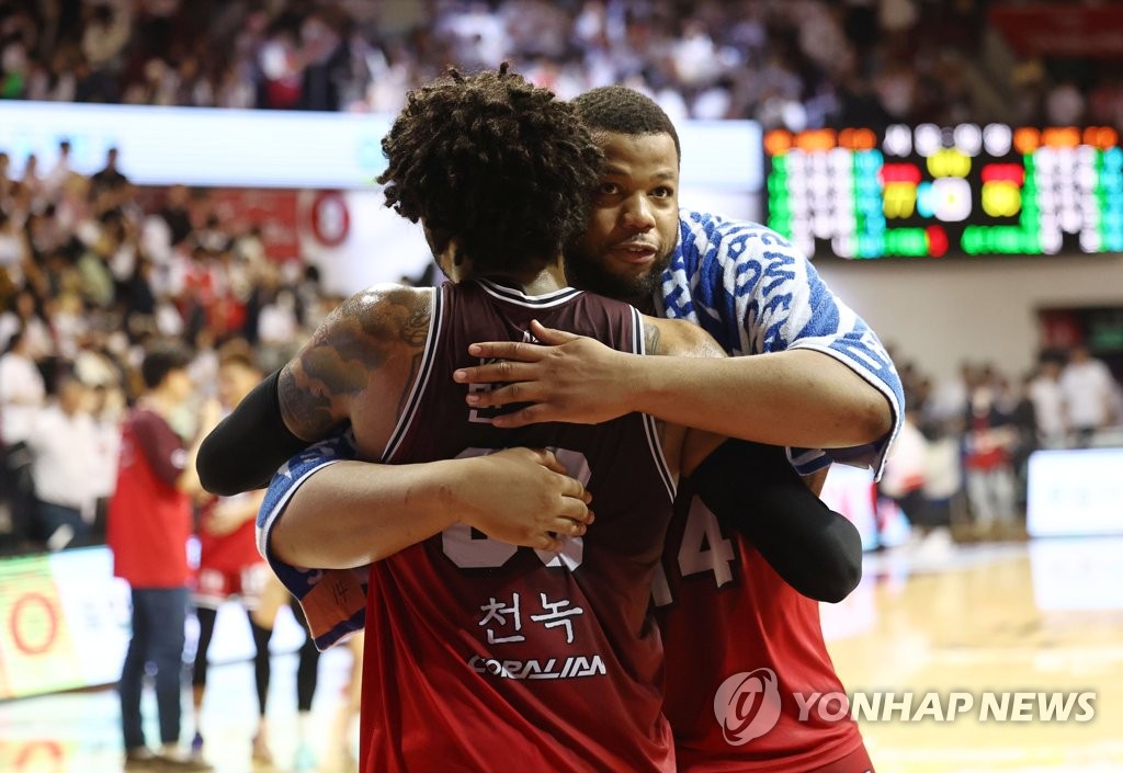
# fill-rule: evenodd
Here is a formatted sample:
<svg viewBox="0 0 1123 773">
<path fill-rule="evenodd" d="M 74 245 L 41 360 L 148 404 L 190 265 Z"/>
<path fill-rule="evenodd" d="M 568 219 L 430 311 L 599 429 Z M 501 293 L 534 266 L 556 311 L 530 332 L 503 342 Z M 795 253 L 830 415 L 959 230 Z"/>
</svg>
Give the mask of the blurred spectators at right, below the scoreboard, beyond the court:
<svg viewBox="0 0 1123 773">
<path fill-rule="evenodd" d="M 1024 536 L 1030 455 L 1121 444 L 1123 384 L 1084 345 L 1041 353 L 1020 380 L 965 362 L 934 383 L 894 355 L 904 427 L 879 491 L 921 527 L 968 538 Z"/>
</svg>

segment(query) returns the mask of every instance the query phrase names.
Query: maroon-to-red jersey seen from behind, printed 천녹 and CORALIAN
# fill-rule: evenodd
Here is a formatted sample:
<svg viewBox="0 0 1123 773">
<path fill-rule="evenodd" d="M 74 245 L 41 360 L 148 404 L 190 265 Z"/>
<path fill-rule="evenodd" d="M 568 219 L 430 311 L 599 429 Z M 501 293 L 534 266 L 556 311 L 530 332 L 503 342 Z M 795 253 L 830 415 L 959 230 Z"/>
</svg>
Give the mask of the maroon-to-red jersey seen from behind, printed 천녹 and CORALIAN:
<svg viewBox="0 0 1123 773">
<path fill-rule="evenodd" d="M 486 281 L 435 293 L 416 387 L 384 461 L 549 447 L 593 494 L 596 521 L 558 553 L 454 526 L 371 569 L 363 770 L 673 771 L 651 579 L 674 483 L 654 421 L 499 429 L 453 371 L 468 345 L 530 340 L 530 321 L 642 353 L 624 303 L 528 297 Z M 519 485 L 512 480 L 511 486 Z"/>
</svg>

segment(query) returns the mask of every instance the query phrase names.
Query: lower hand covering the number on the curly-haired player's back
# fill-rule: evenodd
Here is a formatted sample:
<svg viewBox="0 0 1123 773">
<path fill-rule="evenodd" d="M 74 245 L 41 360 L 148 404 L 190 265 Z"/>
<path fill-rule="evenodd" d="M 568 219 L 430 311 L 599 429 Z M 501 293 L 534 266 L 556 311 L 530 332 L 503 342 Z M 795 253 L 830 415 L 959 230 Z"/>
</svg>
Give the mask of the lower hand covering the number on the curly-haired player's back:
<svg viewBox="0 0 1123 773">
<path fill-rule="evenodd" d="M 506 448 L 455 469 L 460 520 L 494 539 L 557 551 L 563 537 L 579 537 L 593 522 L 592 494 L 549 451 Z"/>
</svg>

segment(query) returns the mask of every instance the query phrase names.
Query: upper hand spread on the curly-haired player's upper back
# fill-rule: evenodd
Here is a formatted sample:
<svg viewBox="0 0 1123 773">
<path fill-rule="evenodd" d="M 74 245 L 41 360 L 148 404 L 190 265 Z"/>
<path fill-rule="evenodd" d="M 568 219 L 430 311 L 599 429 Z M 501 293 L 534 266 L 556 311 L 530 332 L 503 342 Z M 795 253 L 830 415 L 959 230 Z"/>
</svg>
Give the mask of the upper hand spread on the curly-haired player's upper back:
<svg viewBox="0 0 1123 773">
<path fill-rule="evenodd" d="M 473 392 L 474 408 L 512 402 L 530 406 L 495 417 L 496 427 L 524 427 L 544 421 L 601 424 L 630 413 L 633 397 L 632 360 L 593 338 L 530 324 L 530 331 L 546 344 L 490 342 L 473 344 L 468 354 L 500 360 L 453 373 L 459 383 L 506 383 L 487 392 Z"/>
</svg>

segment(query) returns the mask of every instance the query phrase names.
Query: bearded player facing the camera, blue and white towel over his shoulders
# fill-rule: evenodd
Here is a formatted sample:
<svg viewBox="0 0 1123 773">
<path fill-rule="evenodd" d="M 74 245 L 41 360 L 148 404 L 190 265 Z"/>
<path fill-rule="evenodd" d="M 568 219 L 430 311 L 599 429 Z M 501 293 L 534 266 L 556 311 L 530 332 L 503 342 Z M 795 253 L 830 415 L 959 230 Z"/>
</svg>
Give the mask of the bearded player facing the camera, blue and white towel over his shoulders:
<svg viewBox="0 0 1123 773">
<path fill-rule="evenodd" d="M 520 383 L 469 391 L 469 401 L 480 408 L 532 403 L 496 418 L 508 427 L 645 410 L 786 445 L 870 443 L 864 457 L 853 448 L 840 456 L 865 458 L 879 471 L 903 399 L 873 331 L 775 231 L 678 210 L 678 139 L 655 102 L 608 87 L 578 97 L 575 106 L 608 164 L 590 226 L 567 253 L 570 275 L 632 303 L 654 297 L 660 311 L 700 324 L 733 358 L 687 367 L 660 360 L 649 367 L 596 342 L 536 326 L 532 335 L 559 345 L 476 347 L 481 357 L 508 362 L 468 369 L 459 380 Z M 739 356 L 761 352 L 770 354 Z M 512 362 L 519 360 L 528 362 Z M 793 460 L 813 473 L 830 456 L 794 451 Z M 724 463 L 730 476 L 742 474 L 732 457 Z M 843 692 L 818 604 L 780 581 L 749 540 L 719 524 L 713 502 L 687 489 L 668 534 L 667 584 L 655 593 L 667 656 L 665 711 L 679 771 L 870 771 L 852 720 L 829 722 L 812 711 L 800 721 L 793 693 Z M 706 657 L 699 657 L 700 646 Z M 747 700 L 754 689 L 756 707 Z"/>
</svg>

